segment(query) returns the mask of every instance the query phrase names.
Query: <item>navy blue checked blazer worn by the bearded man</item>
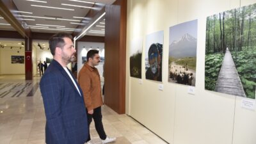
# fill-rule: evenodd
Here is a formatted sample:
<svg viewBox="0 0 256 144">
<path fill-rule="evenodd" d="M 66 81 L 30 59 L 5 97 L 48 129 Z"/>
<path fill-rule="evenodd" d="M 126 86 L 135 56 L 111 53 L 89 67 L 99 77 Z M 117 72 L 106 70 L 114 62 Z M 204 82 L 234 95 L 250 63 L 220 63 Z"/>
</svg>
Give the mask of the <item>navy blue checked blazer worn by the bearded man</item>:
<svg viewBox="0 0 256 144">
<path fill-rule="evenodd" d="M 60 63 L 52 60 L 40 81 L 47 144 L 84 144 L 88 138 L 83 92 L 76 84 L 81 95 Z"/>
</svg>

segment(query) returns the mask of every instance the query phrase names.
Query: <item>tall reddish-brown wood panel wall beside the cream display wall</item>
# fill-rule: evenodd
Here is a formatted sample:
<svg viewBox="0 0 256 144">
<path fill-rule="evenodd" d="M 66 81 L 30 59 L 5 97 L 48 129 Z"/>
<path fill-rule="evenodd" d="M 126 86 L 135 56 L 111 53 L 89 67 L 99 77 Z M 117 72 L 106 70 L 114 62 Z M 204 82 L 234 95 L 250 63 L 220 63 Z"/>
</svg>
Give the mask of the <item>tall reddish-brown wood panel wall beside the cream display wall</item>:
<svg viewBox="0 0 256 144">
<path fill-rule="evenodd" d="M 126 0 L 106 6 L 104 102 L 119 114 L 125 113 L 126 15 Z"/>
</svg>

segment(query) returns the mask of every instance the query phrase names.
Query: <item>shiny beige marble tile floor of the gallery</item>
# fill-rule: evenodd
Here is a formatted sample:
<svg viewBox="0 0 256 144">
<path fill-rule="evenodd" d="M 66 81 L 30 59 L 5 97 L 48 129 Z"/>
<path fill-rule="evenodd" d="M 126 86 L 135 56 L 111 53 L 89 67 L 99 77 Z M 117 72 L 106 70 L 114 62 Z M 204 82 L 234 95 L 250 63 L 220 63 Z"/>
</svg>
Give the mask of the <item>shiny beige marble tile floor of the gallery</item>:
<svg viewBox="0 0 256 144">
<path fill-rule="evenodd" d="M 24 80 L 24 75 L 0 76 L 0 144 L 44 144 L 45 113 L 38 83 Z M 118 115 L 102 106 L 106 134 L 119 144 L 166 143 L 130 116 Z M 100 138 L 91 124 L 93 143 Z"/>
</svg>

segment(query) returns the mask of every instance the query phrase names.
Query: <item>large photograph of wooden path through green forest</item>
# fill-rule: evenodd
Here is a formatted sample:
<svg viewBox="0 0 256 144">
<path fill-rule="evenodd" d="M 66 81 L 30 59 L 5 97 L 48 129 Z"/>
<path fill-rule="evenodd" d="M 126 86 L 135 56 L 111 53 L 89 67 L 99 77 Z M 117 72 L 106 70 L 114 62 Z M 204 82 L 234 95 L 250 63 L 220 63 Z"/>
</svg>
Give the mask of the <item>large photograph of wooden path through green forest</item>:
<svg viewBox="0 0 256 144">
<path fill-rule="evenodd" d="M 207 17 L 205 90 L 255 99 L 256 4 Z"/>
</svg>

